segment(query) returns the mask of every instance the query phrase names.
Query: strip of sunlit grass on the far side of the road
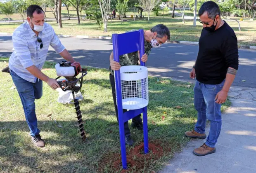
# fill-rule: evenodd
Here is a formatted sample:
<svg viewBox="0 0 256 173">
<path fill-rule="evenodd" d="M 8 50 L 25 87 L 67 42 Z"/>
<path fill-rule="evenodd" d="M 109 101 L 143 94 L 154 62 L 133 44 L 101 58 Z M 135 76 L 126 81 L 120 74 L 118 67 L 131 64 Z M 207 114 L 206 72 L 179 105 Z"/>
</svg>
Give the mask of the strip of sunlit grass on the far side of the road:
<svg viewBox="0 0 256 173">
<path fill-rule="evenodd" d="M 58 28 L 58 24 L 55 21 L 48 22 L 53 26 L 57 34 L 63 35 L 92 35 L 92 36 L 111 36 L 113 33 L 123 33 L 131 29 L 144 30 L 150 29 L 153 26 L 163 23 L 171 31 L 172 41 L 194 41 L 198 42 L 202 25 L 197 22 L 197 26 L 193 27 L 193 22 L 187 20 L 185 24 L 182 23 L 182 19 L 172 19 L 170 16 L 155 16 L 151 17 L 150 21 L 147 21 L 147 17 L 143 19 L 128 19 L 127 22 L 121 22 L 118 19 L 114 19 L 112 22 L 109 20 L 108 32 L 98 28 L 94 21 L 81 20 L 81 24 L 78 25 L 76 20 L 63 21 L 63 28 Z M 239 45 L 256 46 L 256 21 L 240 21 L 242 31 L 238 30 L 237 22 L 227 21 L 228 24 L 235 30 Z M 12 33 L 21 23 L 0 23 L 0 32 Z"/>
</svg>

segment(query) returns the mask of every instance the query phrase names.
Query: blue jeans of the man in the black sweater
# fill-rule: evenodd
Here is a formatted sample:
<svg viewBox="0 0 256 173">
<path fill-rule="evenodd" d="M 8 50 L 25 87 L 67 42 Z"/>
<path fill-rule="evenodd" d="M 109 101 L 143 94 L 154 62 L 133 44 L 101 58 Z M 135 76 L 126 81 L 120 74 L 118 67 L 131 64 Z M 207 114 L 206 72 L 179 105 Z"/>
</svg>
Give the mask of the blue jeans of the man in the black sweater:
<svg viewBox="0 0 256 173">
<path fill-rule="evenodd" d="M 217 85 L 203 84 L 199 81 L 194 86 L 194 107 L 197 110 L 195 131 L 205 133 L 206 119 L 210 121 L 210 132 L 206 145 L 215 147 L 221 130 L 221 104 L 215 102 L 215 97 L 223 88 L 224 82 Z"/>
</svg>

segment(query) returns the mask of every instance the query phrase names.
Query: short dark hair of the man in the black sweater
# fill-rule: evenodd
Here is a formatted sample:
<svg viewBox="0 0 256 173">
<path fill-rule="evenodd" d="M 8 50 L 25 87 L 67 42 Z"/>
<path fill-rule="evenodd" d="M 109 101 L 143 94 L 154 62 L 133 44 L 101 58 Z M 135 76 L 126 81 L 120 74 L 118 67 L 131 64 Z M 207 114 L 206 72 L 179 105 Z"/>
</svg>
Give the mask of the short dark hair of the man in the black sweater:
<svg viewBox="0 0 256 173">
<path fill-rule="evenodd" d="M 204 12 L 207 12 L 209 19 L 214 19 L 215 16 L 220 16 L 220 7 L 213 1 L 207 1 L 199 9 L 198 15 L 201 16 Z"/>
</svg>

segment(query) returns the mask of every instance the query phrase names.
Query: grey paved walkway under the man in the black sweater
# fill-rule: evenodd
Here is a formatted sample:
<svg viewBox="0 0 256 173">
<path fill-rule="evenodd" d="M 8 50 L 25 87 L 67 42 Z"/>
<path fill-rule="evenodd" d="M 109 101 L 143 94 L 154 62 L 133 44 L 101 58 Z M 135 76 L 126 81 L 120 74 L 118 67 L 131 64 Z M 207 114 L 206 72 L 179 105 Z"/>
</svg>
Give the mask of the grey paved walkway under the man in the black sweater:
<svg viewBox="0 0 256 173">
<path fill-rule="evenodd" d="M 229 98 L 216 152 L 195 156 L 206 139 L 192 140 L 159 173 L 256 173 L 256 89 L 231 88 Z"/>
</svg>

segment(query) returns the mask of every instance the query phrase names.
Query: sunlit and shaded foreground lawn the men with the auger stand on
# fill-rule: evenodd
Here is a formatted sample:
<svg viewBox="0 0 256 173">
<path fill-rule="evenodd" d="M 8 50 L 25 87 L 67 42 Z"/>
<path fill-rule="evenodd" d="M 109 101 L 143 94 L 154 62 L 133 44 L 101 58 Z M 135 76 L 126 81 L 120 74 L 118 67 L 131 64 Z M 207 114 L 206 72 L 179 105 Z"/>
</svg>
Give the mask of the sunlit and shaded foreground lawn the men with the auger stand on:
<svg viewBox="0 0 256 173">
<path fill-rule="evenodd" d="M 0 58 L 0 69 L 8 58 Z M 54 64 L 46 62 L 43 72 L 56 77 Z M 31 143 L 21 101 L 9 74 L 0 72 L 0 172 L 105 173 L 116 172 L 113 162 L 120 159 L 119 126 L 109 84 L 109 72 L 88 68 L 80 102 L 88 140 L 83 142 L 77 132 L 73 105 L 57 102 L 58 92 L 43 83 L 43 97 L 36 100 L 36 114 L 46 146 L 37 148 Z M 193 86 L 170 79 L 149 77 L 148 129 L 149 142 L 163 147 L 160 158 L 140 161 L 142 167 L 133 172 L 157 171 L 189 141 L 184 132 L 194 127 L 197 112 L 193 107 Z M 222 110 L 230 105 L 227 102 Z M 181 106 L 181 109 L 174 108 Z M 50 117 L 47 115 L 51 114 Z M 162 120 L 162 116 L 166 118 Z M 154 125 L 155 122 L 156 125 Z M 61 125 L 62 128 L 57 125 Z M 129 122 L 130 126 L 130 122 Z M 131 129 L 135 145 L 143 133 Z M 127 151 L 133 147 L 127 147 Z M 152 153 L 149 153 L 150 156 Z M 116 157 L 114 157 L 116 156 Z M 120 169 L 117 171 L 121 171 Z"/>
</svg>

